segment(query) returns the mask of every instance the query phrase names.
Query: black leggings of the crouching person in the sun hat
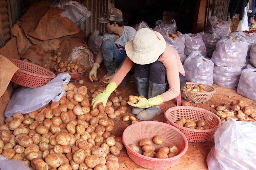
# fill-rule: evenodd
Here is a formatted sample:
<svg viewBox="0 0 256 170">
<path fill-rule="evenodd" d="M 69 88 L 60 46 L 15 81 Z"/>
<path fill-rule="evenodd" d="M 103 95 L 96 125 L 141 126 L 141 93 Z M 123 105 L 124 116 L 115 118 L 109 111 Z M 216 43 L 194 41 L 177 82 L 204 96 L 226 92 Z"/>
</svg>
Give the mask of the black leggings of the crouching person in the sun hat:
<svg viewBox="0 0 256 170">
<path fill-rule="evenodd" d="M 180 90 L 186 84 L 185 76 L 180 75 Z M 149 78 L 152 83 L 156 84 L 164 84 L 167 82 L 166 68 L 163 63 L 160 61 L 155 61 L 150 64 L 135 64 L 135 76 L 140 78 Z M 169 89 L 169 85 L 167 84 L 166 89 Z"/>
</svg>

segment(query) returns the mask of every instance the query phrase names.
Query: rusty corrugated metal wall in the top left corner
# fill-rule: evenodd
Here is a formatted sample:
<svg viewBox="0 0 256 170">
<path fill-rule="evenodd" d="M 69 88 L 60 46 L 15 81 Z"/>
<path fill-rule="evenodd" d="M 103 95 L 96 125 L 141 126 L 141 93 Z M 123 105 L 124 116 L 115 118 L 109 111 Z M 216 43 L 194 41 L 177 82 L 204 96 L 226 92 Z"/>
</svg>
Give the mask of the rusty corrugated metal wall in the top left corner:
<svg viewBox="0 0 256 170">
<path fill-rule="evenodd" d="M 11 39 L 8 6 L 6 0 L 0 0 L 0 14 L 2 26 L 1 30 L 3 29 L 3 35 L 0 36 L 0 47 L 3 47 L 5 43 Z"/>
</svg>

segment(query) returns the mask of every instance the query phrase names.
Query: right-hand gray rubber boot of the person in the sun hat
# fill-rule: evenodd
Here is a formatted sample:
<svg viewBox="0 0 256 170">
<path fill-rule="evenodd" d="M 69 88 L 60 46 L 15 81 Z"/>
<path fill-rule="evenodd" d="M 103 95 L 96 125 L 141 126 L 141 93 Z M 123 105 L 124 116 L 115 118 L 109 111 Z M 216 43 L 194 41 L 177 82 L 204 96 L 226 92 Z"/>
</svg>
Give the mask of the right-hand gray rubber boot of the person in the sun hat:
<svg viewBox="0 0 256 170">
<path fill-rule="evenodd" d="M 149 87 L 148 87 L 148 98 L 155 97 L 165 92 L 167 83 L 164 84 L 156 84 L 152 83 L 149 80 Z M 160 115 L 160 107 L 158 105 L 151 106 L 146 110 L 140 112 L 136 117 L 139 120 L 150 120 L 155 116 Z"/>
</svg>

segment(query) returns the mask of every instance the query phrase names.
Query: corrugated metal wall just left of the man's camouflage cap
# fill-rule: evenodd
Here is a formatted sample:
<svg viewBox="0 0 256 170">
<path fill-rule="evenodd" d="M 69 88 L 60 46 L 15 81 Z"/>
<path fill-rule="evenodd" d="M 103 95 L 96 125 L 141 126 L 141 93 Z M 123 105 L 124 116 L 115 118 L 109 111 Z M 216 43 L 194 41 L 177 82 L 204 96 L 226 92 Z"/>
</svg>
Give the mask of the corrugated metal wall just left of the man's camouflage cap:
<svg viewBox="0 0 256 170">
<path fill-rule="evenodd" d="M 100 23 L 98 18 L 102 17 L 108 9 L 109 0 L 87 0 L 84 6 L 91 11 L 91 16 L 79 25 L 79 28 L 84 30 L 84 39 L 88 42 L 88 39 L 95 30 L 99 30 L 100 34 L 103 33 L 104 24 Z"/>
</svg>

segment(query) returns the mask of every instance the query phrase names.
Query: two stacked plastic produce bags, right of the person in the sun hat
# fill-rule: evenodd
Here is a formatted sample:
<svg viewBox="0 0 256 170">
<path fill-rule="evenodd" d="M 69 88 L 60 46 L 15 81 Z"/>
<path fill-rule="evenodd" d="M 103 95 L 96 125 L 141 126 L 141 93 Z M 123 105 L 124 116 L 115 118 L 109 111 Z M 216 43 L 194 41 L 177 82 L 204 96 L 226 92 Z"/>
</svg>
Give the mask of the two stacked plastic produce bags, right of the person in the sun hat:
<svg viewBox="0 0 256 170">
<path fill-rule="evenodd" d="M 215 84 L 225 88 L 236 88 L 242 67 L 245 65 L 248 45 L 244 37 L 234 36 L 220 39 L 212 54 Z"/>
</svg>

